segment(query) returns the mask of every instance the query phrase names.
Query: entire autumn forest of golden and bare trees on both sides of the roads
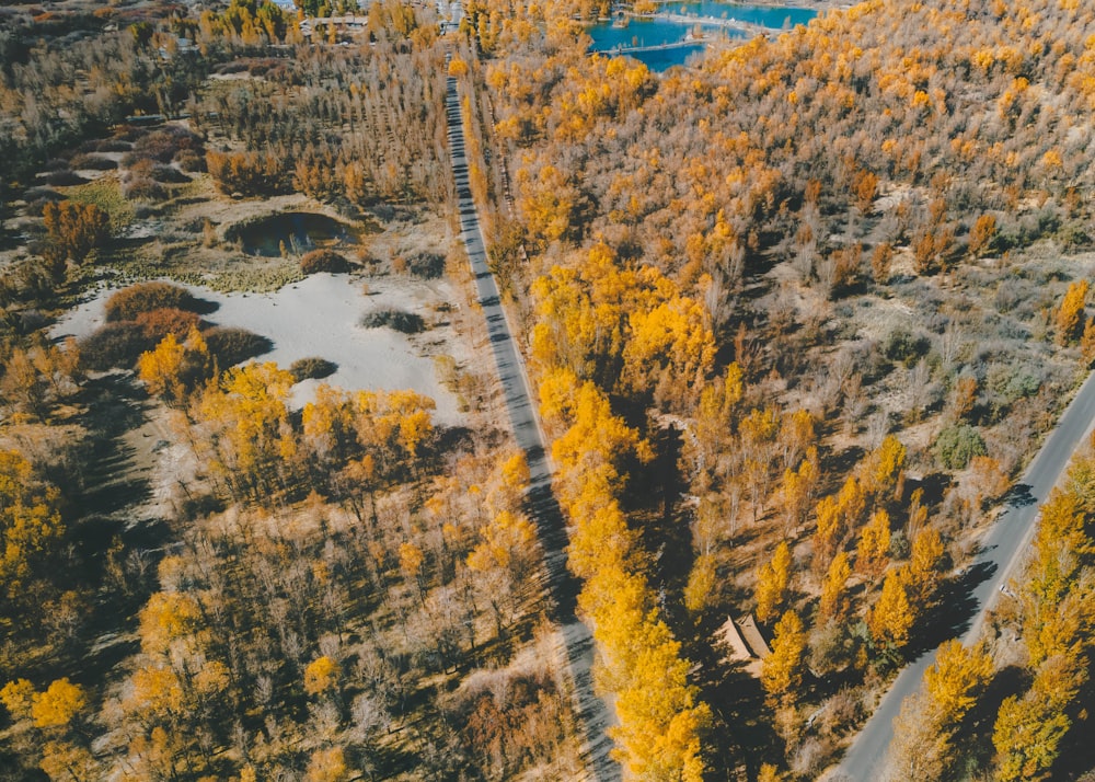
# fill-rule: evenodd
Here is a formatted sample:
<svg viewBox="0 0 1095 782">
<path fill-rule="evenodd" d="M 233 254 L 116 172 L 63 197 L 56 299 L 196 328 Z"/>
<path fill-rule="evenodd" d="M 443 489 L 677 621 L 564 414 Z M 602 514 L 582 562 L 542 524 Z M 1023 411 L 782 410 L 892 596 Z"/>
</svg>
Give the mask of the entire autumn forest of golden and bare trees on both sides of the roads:
<svg viewBox="0 0 1095 782">
<path fill-rule="evenodd" d="M 381 241 L 459 233 L 451 76 L 623 779 L 821 778 L 935 647 L 894 779 L 1091 779 L 1095 445 L 955 639 L 1095 363 L 1095 12 L 867 0 L 657 73 L 600 3 L 301 25 L 353 10 L 0 9 L 0 775 L 595 777 L 491 372 L 438 361 L 442 424 L 194 294 L 443 276 L 487 354 L 461 251 Z M 249 255 L 306 203 L 380 238 Z"/>
</svg>

